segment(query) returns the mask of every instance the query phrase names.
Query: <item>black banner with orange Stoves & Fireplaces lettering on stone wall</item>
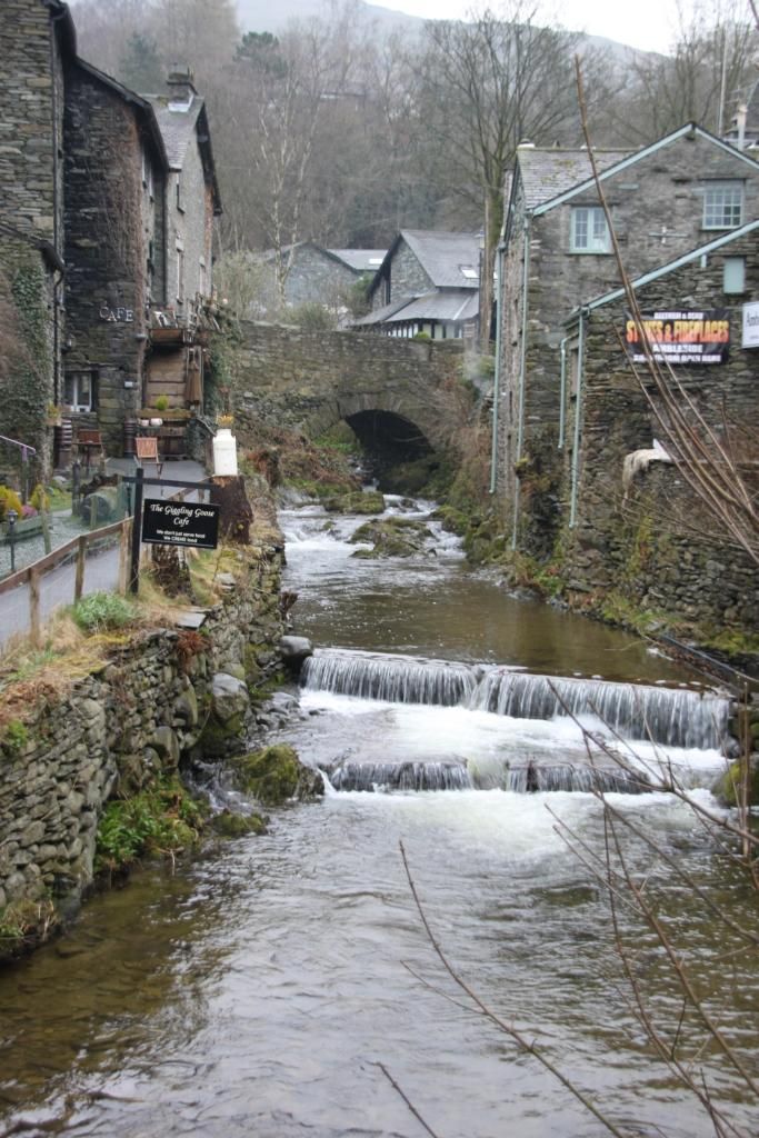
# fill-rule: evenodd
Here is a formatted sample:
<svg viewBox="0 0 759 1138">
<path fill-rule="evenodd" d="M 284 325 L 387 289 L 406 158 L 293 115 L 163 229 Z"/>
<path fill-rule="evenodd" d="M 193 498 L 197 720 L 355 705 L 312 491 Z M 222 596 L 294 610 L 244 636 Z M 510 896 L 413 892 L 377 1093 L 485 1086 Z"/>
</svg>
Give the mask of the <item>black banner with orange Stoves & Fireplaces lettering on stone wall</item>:
<svg viewBox="0 0 759 1138">
<path fill-rule="evenodd" d="M 657 363 L 727 362 L 731 341 L 727 308 L 712 308 L 709 312 L 653 312 L 643 314 L 640 323 L 628 319 L 625 344 L 633 363 L 646 361 L 641 323 Z"/>
</svg>

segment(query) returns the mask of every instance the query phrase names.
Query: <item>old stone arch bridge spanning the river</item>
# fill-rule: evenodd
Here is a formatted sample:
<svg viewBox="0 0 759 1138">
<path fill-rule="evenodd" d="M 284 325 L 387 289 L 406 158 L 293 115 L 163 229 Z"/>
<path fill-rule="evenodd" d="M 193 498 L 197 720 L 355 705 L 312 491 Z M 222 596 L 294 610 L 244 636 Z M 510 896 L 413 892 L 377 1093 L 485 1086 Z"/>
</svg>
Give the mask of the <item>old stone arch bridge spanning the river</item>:
<svg viewBox="0 0 759 1138">
<path fill-rule="evenodd" d="M 242 325 L 233 406 L 317 438 L 345 420 L 358 439 L 406 452 L 455 447 L 467 395 L 463 345 L 366 332 Z"/>
</svg>

